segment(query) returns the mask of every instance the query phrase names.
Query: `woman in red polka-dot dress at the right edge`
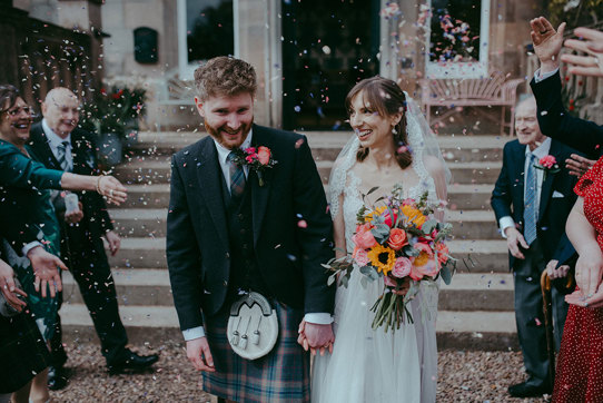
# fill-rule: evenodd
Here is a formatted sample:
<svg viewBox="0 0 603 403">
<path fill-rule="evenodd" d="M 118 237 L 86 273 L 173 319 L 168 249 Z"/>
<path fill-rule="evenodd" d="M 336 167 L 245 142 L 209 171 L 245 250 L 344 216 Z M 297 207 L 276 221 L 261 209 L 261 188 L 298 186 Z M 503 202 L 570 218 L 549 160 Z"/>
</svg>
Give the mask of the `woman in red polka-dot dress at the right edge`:
<svg viewBox="0 0 603 403">
<path fill-rule="evenodd" d="M 576 184 L 567 236 L 580 257 L 558 356 L 553 402 L 603 402 L 603 158 Z"/>
</svg>

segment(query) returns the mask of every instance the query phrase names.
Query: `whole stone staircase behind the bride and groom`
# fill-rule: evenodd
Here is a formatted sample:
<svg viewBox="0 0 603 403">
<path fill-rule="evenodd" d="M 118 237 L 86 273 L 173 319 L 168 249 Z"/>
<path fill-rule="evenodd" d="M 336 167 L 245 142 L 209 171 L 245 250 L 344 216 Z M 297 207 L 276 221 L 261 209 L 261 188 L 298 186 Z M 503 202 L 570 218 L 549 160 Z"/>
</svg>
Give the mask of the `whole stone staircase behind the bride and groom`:
<svg viewBox="0 0 603 403">
<path fill-rule="evenodd" d="M 110 214 L 122 236 L 121 250 L 110 258 L 126 326 L 172 328 L 178 320 L 165 257 L 166 216 L 169 200 L 171 154 L 205 134 L 147 132 L 134 156 L 115 175 L 129 184 L 128 202 Z M 326 186 L 334 159 L 349 132 L 308 132 L 320 176 Z M 447 219 L 454 225 L 452 253 L 461 261 L 458 273 L 439 294 L 437 321 L 441 348 L 516 348 L 513 278 L 506 244 L 490 208 L 490 195 L 501 169 L 502 147 L 508 138 L 494 136 L 441 136 L 445 159 L 453 173 L 448 188 Z M 73 279 L 66 275 L 62 322 L 83 331 L 91 325 Z"/>
</svg>

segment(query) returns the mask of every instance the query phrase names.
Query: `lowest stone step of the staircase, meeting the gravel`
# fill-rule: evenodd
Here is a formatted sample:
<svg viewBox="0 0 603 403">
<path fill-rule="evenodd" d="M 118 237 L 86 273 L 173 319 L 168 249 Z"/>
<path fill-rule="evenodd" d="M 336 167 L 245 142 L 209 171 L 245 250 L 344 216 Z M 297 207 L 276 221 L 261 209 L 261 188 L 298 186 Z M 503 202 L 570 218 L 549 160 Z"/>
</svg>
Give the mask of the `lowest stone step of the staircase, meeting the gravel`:
<svg viewBox="0 0 603 403">
<path fill-rule="evenodd" d="M 92 321 L 83 304 L 66 303 L 61 307 L 63 332 L 77 337 L 96 340 Z M 130 343 L 142 344 L 154 340 L 181 341 L 178 316 L 172 306 L 123 306 L 121 321 Z M 508 351 L 517 350 L 515 314 L 510 312 L 439 311 L 436 322 L 437 348 Z M 69 335 L 68 335 L 69 337 Z"/>
</svg>

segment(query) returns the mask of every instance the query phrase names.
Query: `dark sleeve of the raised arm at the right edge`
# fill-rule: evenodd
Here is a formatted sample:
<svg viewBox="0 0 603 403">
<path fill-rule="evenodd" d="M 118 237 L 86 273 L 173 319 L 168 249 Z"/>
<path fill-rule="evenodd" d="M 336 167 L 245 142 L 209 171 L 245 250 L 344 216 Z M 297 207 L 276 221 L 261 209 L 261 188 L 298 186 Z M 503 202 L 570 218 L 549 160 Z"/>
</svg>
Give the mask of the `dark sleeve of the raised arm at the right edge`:
<svg viewBox="0 0 603 403">
<path fill-rule="evenodd" d="M 538 107 L 538 125 L 542 132 L 579 151 L 591 159 L 599 159 L 603 147 L 603 126 L 571 116 L 561 99 L 558 71 L 536 83 L 530 81 Z"/>
</svg>

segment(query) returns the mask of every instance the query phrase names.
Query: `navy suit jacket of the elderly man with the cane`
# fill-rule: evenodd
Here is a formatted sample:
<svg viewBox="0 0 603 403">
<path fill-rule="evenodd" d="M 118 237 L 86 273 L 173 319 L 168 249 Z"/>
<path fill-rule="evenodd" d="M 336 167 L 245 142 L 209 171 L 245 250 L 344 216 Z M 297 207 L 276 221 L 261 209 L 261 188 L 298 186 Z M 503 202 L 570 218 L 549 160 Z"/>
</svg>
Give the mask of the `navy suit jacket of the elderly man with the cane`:
<svg viewBox="0 0 603 403">
<path fill-rule="evenodd" d="M 525 148 L 518 140 L 510 141 L 503 150 L 503 168 L 492 191 L 492 208 L 496 215 L 496 222 L 504 216 L 511 216 L 520 225 L 523 234 L 524 213 L 524 166 Z M 550 155 L 554 156 L 557 163 L 564 161 L 576 150 L 564 146 L 560 141 L 551 142 Z M 563 166 L 563 164 L 560 164 Z M 576 200 L 573 191 L 576 178 L 571 176 L 567 169 L 562 168 L 556 174 L 546 174 L 543 180 L 538 222 L 536 223 L 537 238 L 546 261 L 557 259 L 558 264 L 572 263 L 575 258 L 575 250 L 565 235 L 565 223 Z M 553 197 L 553 193 L 563 197 Z M 513 268 L 515 258 L 508 254 L 510 267 Z"/>
</svg>

